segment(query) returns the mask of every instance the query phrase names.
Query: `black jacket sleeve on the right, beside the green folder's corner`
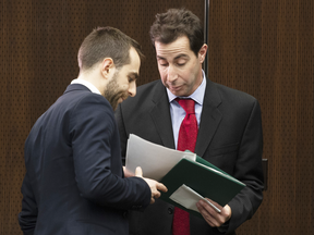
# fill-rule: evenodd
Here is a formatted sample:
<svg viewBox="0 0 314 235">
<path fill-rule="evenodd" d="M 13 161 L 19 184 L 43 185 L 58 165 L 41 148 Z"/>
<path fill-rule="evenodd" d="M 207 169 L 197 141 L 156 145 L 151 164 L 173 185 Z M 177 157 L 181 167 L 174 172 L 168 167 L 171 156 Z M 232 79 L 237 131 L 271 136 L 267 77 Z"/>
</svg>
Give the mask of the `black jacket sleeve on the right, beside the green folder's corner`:
<svg viewBox="0 0 314 235">
<path fill-rule="evenodd" d="M 255 100 L 241 139 L 233 174 L 246 187 L 228 203 L 232 211 L 228 231 L 234 231 L 251 219 L 262 203 L 264 188 L 262 153 L 261 108 L 257 100 Z"/>
</svg>

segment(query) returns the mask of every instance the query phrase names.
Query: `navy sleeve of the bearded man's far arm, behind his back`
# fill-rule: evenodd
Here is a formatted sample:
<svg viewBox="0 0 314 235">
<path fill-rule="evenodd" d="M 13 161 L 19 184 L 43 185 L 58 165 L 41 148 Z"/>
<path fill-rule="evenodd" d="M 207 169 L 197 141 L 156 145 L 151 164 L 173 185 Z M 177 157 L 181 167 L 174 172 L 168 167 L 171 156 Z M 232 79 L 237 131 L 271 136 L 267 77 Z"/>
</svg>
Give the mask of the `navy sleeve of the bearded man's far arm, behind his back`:
<svg viewBox="0 0 314 235">
<path fill-rule="evenodd" d="M 33 235 L 36 226 L 38 210 L 27 172 L 25 174 L 21 191 L 23 194 L 23 200 L 22 211 L 19 214 L 19 223 L 24 235 Z"/>
</svg>

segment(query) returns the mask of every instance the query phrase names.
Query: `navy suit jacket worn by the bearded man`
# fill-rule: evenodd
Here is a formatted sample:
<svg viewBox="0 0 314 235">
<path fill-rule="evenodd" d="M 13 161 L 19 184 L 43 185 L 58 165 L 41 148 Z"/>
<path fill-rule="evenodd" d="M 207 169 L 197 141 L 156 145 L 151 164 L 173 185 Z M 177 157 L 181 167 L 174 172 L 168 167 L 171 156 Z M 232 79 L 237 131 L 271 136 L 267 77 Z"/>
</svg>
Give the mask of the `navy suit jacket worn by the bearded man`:
<svg viewBox="0 0 314 235">
<path fill-rule="evenodd" d="M 128 234 L 128 210 L 150 201 L 142 178 L 123 178 L 111 106 L 83 85 L 70 85 L 37 120 L 25 165 L 19 214 L 25 235 Z"/>
</svg>

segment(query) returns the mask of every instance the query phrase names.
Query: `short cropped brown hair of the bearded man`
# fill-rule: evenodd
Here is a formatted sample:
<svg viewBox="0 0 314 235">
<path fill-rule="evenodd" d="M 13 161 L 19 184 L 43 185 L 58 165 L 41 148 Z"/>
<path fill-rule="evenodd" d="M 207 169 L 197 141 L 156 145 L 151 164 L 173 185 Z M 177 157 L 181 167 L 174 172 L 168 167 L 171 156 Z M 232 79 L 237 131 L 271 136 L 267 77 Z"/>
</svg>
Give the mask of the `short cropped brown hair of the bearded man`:
<svg viewBox="0 0 314 235">
<path fill-rule="evenodd" d="M 113 27 L 97 27 L 82 42 L 77 61 L 80 70 L 88 70 L 105 58 L 111 58 L 117 69 L 131 63 L 130 49 L 133 47 L 140 59 L 144 59 L 137 41 Z"/>
</svg>

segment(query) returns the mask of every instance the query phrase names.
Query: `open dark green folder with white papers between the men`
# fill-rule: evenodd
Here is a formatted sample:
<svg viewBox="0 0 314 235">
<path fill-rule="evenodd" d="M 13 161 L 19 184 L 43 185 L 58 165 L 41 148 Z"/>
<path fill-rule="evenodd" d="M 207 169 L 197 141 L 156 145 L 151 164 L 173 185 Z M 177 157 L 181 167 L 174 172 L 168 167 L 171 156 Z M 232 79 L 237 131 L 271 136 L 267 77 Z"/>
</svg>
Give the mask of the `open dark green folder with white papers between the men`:
<svg viewBox="0 0 314 235">
<path fill-rule="evenodd" d="M 126 169 L 134 172 L 136 166 L 143 169 L 145 177 L 168 188 L 160 199 L 198 217 L 195 205 L 203 197 L 224 207 L 245 186 L 193 152 L 169 149 L 131 134 Z"/>
</svg>

